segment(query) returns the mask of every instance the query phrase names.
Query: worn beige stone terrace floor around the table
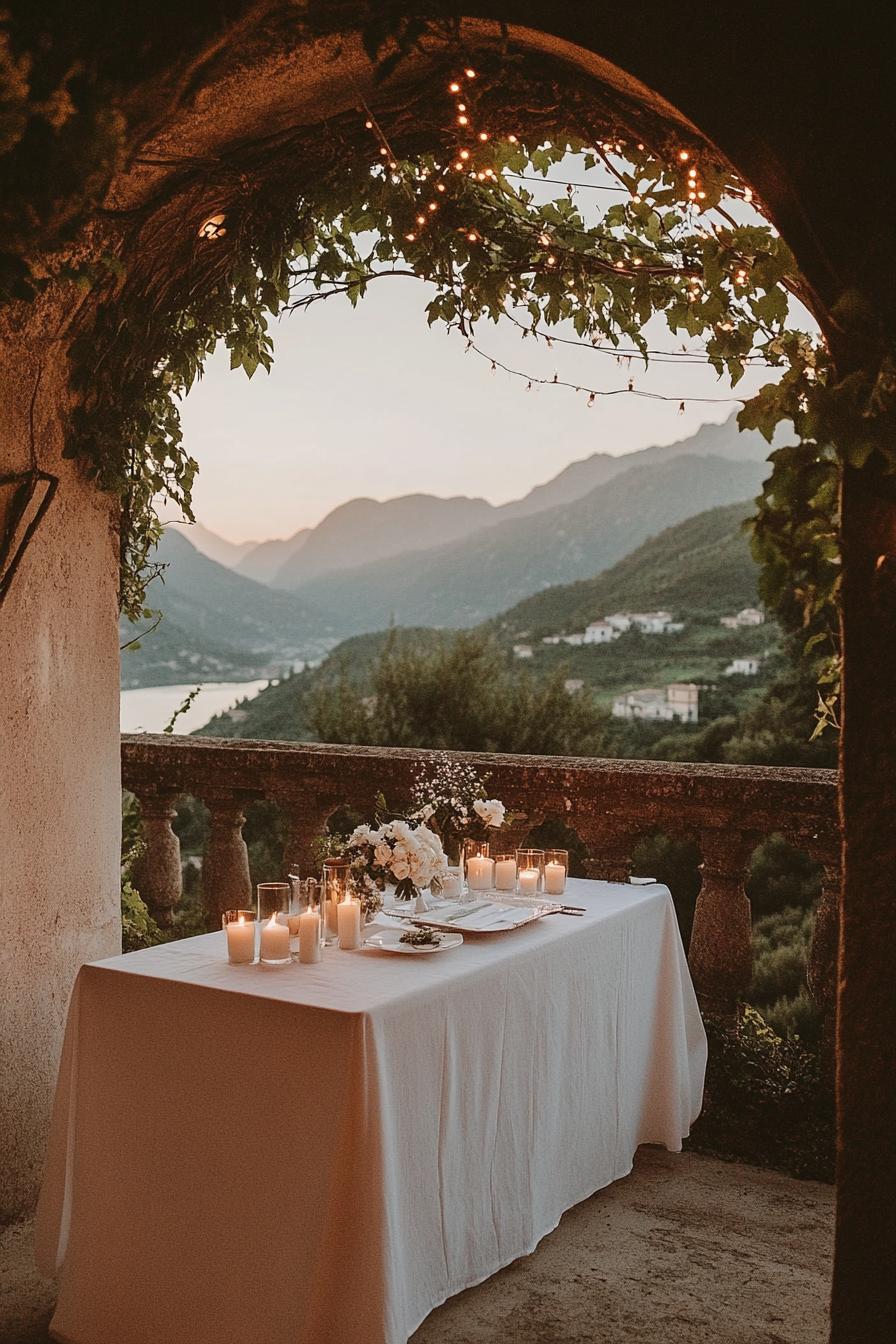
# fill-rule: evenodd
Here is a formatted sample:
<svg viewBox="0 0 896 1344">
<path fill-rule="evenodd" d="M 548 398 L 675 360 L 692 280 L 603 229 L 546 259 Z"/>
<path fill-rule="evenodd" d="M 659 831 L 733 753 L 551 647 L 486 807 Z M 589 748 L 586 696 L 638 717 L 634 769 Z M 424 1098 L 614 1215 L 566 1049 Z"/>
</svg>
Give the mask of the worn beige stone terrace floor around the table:
<svg viewBox="0 0 896 1344">
<path fill-rule="evenodd" d="M 833 1210 L 832 1185 L 642 1148 L 631 1176 L 411 1344 L 823 1344 Z M 0 1339 L 46 1344 L 48 1285 L 24 1238 L 0 1242 Z M 31 1309 L 11 1309 L 23 1289 Z"/>
</svg>

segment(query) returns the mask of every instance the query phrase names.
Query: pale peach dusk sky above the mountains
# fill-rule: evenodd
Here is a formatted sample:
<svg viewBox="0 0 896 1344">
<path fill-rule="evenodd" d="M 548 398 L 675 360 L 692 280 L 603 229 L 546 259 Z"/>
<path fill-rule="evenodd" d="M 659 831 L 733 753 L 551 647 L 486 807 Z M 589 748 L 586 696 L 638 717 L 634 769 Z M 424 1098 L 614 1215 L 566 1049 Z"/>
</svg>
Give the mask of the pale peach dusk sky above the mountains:
<svg viewBox="0 0 896 1344">
<path fill-rule="evenodd" d="M 557 195 L 556 185 L 543 191 Z M 591 198 L 595 206 L 600 196 L 602 188 Z M 227 352 L 218 351 L 183 406 L 185 444 L 200 464 L 197 520 L 243 542 L 287 536 L 359 495 L 383 500 L 419 491 L 501 504 L 578 458 L 686 438 L 737 409 L 729 401 L 689 401 L 732 394 L 712 368 L 681 360 L 652 363 L 646 372 L 638 360 L 631 364 L 635 388 L 672 402 L 621 395 L 588 409 L 586 394 L 562 387 L 529 392 L 525 380 L 465 353 L 457 332 L 427 328 L 429 297 L 420 281 L 386 278 L 356 309 L 337 297 L 286 314 L 274 329 L 273 372 L 259 370 L 251 382 L 231 372 Z M 657 349 L 681 348 L 661 320 L 647 339 Z M 547 349 L 509 321 L 482 323 L 478 343 L 543 378 L 556 372 L 606 391 L 629 380 L 629 368 L 611 355 Z M 752 395 L 770 376 L 751 370 L 737 396 Z"/>
</svg>

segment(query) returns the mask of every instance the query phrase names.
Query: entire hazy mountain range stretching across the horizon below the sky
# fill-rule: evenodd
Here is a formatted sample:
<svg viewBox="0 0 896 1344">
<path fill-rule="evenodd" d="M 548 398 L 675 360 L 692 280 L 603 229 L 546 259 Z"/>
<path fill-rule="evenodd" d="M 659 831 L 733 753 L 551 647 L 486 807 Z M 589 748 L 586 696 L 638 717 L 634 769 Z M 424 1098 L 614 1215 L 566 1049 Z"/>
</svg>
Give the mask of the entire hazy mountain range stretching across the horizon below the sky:
<svg viewBox="0 0 896 1344">
<path fill-rule="evenodd" d="M 767 450 L 729 421 L 662 448 L 595 453 L 500 508 L 466 496 L 357 499 L 316 528 L 257 546 L 171 526 L 157 555 L 164 582 L 149 590 L 165 620 L 122 656 L 122 684 L 247 680 L 391 620 L 477 625 L 755 493 Z M 669 574 L 677 563 L 669 556 Z M 134 633 L 125 626 L 122 642 Z"/>
</svg>

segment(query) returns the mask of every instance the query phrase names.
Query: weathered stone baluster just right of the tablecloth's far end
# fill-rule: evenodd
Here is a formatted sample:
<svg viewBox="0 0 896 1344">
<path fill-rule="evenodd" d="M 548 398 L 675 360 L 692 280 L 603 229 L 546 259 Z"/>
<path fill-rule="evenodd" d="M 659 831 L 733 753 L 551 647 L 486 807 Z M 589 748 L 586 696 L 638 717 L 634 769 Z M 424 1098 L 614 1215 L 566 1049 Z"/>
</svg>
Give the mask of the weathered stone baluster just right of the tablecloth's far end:
<svg viewBox="0 0 896 1344">
<path fill-rule="evenodd" d="M 758 837 L 731 828 L 703 831 L 703 883 L 688 961 L 704 1015 L 733 1020 L 752 980 L 752 921 L 744 878 Z"/>
</svg>

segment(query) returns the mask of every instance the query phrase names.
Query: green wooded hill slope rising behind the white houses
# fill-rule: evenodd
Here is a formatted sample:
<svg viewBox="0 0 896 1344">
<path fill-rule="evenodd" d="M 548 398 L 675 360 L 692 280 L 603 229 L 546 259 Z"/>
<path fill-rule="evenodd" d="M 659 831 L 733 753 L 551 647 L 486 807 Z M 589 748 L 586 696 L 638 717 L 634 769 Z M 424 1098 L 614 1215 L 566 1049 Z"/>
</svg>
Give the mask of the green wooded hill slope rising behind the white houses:
<svg viewBox="0 0 896 1344">
<path fill-rule="evenodd" d="M 756 603 L 756 564 L 742 523 L 751 503 L 707 509 L 666 528 L 595 578 L 517 602 L 489 622 L 501 637 L 570 633 L 611 612 L 668 610 L 713 621 Z"/>
</svg>

